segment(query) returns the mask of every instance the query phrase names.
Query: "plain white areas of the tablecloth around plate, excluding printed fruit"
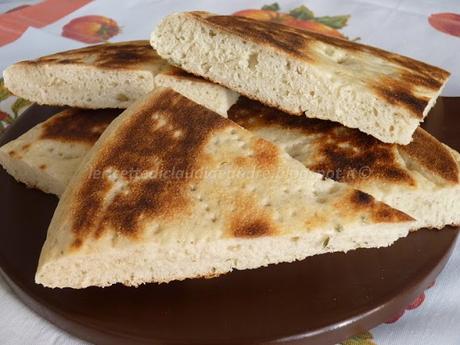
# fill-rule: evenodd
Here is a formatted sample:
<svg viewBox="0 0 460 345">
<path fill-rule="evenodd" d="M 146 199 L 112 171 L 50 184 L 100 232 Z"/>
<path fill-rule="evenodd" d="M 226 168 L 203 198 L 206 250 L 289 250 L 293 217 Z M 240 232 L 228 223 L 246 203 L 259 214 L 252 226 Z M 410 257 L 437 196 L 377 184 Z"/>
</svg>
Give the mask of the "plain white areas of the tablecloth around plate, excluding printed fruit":
<svg viewBox="0 0 460 345">
<path fill-rule="evenodd" d="M 74 18 L 99 15 L 113 19 L 121 29 L 119 34 L 110 39 L 115 42 L 147 39 L 155 24 L 171 12 L 201 9 L 231 14 L 243 9 L 260 9 L 271 1 L 93 1 L 53 23 L 37 25 L 40 28 L 29 27 L 20 38 L 1 46 L 0 69 L 3 70 L 18 60 L 84 46 L 83 42 L 61 36 L 63 26 Z M 2 2 L 0 12 L 37 2 Z M 436 18 L 446 18 L 445 15 L 438 15 L 446 12 L 456 13 L 460 18 L 459 0 L 292 0 L 278 3 L 281 11 L 285 12 L 306 5 L 314 11 L 316 17 L 350 15 L 347 25 L 337 28 L 343 35 L 350 39 L 359 38 L 363 43 L 399 52 L 451 71 L 452 78 L 443 95 L 460 96 L 460 21 L 448 19 L 450 26 L 447 25 L 447 29 L 441 31 L 428 21 L 433 14 Z M 2 16 L 0 15 L 0 35 L 2 30 L 8 30 L 5 24 L 2 28 Z M 5 115 L 0 113 L 3 125 L 17 116 L 11 109 L 13 103 L 12 97 L 0 103 L 0 111 L 11 115 L 9 121 L 5 122 L 2 118 Z M 426 292 L 426 300 L 419 308 L 407 311 L 394 324 L 384 324 L 370 330 L 370 336 L 373 337 L 368 340 L 370 342 L 356 340 L 353 344 L 369 345 L 375 342 L 378 345 L 459 345 L 459 267 L 460 243 L 456 245 L 454 254 L 436 285 Z M 35 315 L 0 279 L 0 344 L 70 345 L 84 342 Z"/>
</svg>

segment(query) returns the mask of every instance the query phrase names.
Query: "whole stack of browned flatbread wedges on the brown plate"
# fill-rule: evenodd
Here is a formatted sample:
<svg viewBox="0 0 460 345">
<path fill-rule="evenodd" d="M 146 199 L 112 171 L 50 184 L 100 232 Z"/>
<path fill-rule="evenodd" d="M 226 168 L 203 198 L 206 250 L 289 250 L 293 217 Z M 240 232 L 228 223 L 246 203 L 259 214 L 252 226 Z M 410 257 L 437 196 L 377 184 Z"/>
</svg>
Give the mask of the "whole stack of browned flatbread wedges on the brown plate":
<svg viewBox="0 0 460 345">
<path fill-rule="evenodd" d="M 18 96 L 91 109 L 0 148 L 13 177 L 60 197 L 37 283 L 212 277 L 460 223 L 460 156 L 418 128 L 447 72 L 204 12 L 166 17 L 151 44 L 4 73 Z"/>
</svg>

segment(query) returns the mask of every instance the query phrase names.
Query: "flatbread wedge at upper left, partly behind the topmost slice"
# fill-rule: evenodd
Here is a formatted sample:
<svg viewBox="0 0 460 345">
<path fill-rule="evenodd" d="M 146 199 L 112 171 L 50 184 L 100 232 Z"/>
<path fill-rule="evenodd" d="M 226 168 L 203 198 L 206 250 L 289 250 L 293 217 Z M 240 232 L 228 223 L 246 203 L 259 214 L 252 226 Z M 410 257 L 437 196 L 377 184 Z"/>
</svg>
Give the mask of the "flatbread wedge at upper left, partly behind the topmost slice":
<svg viewBox="0 0 460 345">
<path fill-rule="evenodd" d="M 13 94 L 38 104 L 126 108 L 151 91 L 167 67 L 148 41 L 127 41 L 21 61 L 3 77 Z"/>
</svg>

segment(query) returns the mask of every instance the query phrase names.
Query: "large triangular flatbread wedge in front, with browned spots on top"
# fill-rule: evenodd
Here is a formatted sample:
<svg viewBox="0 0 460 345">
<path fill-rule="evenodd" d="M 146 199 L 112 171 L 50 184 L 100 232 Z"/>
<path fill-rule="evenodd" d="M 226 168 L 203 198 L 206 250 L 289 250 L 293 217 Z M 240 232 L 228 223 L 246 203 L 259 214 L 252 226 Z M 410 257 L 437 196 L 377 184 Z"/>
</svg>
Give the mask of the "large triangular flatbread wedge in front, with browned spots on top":
<svg viewBox="0 0 460 345">
<path fill-rule="evenodd" d="M 387 246 L 412 223 L 159 89 L 116 118 L 86 156 L 55 211 L 35 279 L 84 288 L 210 277 Z"/>
</svg>

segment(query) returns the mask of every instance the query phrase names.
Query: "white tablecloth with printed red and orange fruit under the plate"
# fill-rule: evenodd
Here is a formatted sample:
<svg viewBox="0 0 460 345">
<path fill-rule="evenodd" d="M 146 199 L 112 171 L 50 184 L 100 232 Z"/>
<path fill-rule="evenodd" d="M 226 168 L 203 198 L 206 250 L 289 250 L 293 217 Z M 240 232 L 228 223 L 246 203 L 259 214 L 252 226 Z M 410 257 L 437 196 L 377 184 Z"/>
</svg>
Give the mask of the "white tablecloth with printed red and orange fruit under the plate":
<svg viewBox="0 0 460 345">
<path fill-rule="evenodd" d="M 399 52 L 449 70 L 452 77 L 443 95 L 460 96 L 459 0 L 3 1 L 0 69 L 87 44 L 147 39 L 163 16 L 195 9 L 281 22 Z M 0 80 L 0 133 L 29 105 L 12 96 Z M 459 267 L 457 244 L 425 294 L 386 324 L 342 344 L 459 345 Z M 0 311 L 1 344 L 84 344 L 29 311 L 1 279 Z"/>
</svg>

